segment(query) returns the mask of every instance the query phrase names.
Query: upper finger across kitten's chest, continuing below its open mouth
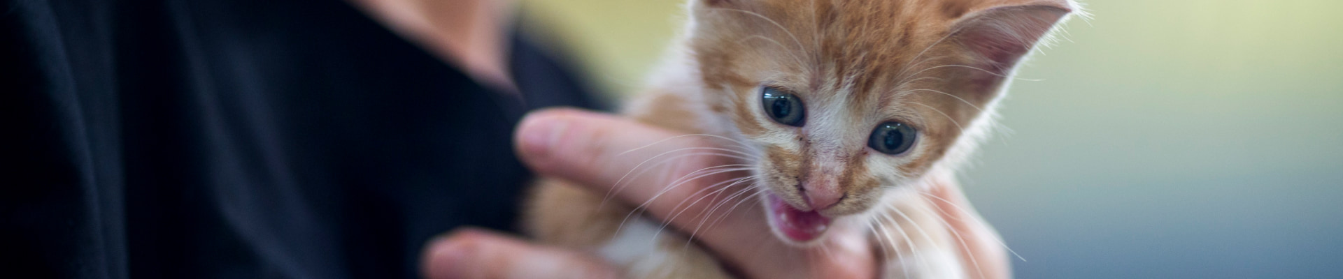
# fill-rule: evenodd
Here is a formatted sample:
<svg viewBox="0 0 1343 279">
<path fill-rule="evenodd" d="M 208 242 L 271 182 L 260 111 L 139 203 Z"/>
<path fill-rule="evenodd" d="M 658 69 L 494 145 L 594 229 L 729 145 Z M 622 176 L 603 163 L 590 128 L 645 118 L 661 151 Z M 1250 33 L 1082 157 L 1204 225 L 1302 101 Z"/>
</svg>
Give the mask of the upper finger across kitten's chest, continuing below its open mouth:
<svg viewBox="0 0 1343 279">
<path fill-rule="evenodd" d="M 735 192 L 723 194 L 716 188 L 747 174 L 724 172 L 700 176 L 713 173 L 701 172 L 706 168 L 736 164 L 736 158 L 731 156 L 677 157 L 674 164 L 657 166 L 654 174 L 626 176 L 637 168 L 650 168 L 646 164 L 650 158 L 658 161 L 658 156 L 684 150 L 723 152 L 721 148 L 714 149 L 719 145 L 712 144 L 727 142 L 680 135 L 682 134 L 614 115 L 557 109 L 529 114 L 518 126 L 516 141 L 518 156 L 537 173 L 577 182 L 596 193 L 614 193 L 629 204 L 643 205 L 649 215 L 693 233 L 724 260 L 740 266 L 752 278 L 830 274 L 819 271 L 830 268 L 860 270 L 857 272 L 861 274 L 865 272 L 861 271 L 864 267 L 872 266 L 870 251 L 862 244 L 830 247 L 822 252 L 817 247 L 788 247 L 776 237 L 770 237 L 760 207 L 748 200 L 753 199 L 749 197 L 753 193 L 751 189 L 739 192 L 745 196 L 737 196 L 737 201 L 721 200 Z M 674 141 L 665 141 L 669 138 Z M 698 178 L 677 181 L 682 177 Z M 804 268 L 819 270 L 798 272 Z"/>
</svg>

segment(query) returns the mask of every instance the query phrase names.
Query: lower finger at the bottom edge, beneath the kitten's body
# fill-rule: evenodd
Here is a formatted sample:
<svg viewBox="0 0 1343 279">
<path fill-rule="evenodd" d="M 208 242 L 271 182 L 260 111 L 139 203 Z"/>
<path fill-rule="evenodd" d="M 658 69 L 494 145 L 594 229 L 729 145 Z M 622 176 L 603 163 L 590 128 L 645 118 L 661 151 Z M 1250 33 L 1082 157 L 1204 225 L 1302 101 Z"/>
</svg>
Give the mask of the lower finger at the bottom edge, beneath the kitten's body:
<svg viewBox="0 0 1343 279">
<path fill-rule="evenodd" d="M 432 240 L 422 264 L 428 279 L 616 278 L 614 268 L 591 256 L 479 229 Z"/>
</svg>

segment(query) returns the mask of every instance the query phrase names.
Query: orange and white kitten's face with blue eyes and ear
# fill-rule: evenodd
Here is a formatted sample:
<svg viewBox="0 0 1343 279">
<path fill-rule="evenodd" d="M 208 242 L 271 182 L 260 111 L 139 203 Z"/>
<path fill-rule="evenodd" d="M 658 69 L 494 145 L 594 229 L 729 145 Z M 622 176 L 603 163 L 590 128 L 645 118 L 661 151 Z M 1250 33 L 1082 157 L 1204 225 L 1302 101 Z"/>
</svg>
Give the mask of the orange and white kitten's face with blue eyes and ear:
<svg viewBox="0 0 1343 279">
<path fill-rule="evenodd" d="M 709 0 L 692 5 L 705 102 L 761 154 L 775 232 L 835 219 L 916 181 L 992 105 L 1069 1 Z"/>
</svg>

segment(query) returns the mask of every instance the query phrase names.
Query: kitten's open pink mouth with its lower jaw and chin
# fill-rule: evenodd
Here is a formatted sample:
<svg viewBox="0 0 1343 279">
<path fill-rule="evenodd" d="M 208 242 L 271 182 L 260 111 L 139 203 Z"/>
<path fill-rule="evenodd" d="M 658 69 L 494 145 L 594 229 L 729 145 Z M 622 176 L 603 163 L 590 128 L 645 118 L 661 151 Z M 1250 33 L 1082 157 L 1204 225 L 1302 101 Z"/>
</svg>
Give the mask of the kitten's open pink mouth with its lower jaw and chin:
<svg viewBox="0 0 1343 279">
<path fill-rule="evenodd" d="M 831 227 L 830 217 L 815 211 L 798 211 L 774 193 L 767 194 L 766 209 L 771 231 L 788 244 L 811 245 L 819 243 Z"/>
</svg>

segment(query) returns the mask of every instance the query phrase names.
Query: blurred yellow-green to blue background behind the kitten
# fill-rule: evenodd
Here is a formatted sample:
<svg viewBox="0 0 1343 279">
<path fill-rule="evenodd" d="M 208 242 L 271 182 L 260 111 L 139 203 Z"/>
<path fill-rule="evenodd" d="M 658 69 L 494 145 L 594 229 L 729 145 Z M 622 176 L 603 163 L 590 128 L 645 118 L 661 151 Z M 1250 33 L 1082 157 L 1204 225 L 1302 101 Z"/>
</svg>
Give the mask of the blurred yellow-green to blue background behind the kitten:
<svg viewBox="0 0 1343 279">
<path fill-rule="evenodd" d="M 1343 278 L 1343 1 L 1084 4 L 963 180 L 1018 278 Z M 681 0 L 522 7 L 610 93 L 684 17 Z"/>
</svg>

